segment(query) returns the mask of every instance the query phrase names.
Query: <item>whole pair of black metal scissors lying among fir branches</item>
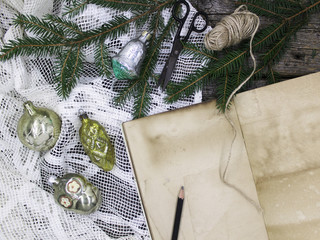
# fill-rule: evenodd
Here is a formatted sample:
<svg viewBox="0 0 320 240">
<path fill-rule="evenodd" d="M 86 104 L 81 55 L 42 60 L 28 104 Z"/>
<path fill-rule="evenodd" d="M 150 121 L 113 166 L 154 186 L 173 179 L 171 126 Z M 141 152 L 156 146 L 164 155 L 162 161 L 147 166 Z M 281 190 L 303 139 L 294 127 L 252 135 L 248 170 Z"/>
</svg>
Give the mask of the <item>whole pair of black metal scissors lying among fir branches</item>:
<svg viewBox="0 0 320 240">
<path fill-rule="evenodd" d="M 182 5 L 182 6 L 184 5 L 186 7 L 186 13 L 182 17 L 179 17 L 178 11 L 177 11 L 178 7 L 180 5 Z M 189 30 L 187 32 L 187 35 L 182 38 L 182 36 L 180 35 L 181 30 L 182 30 L 182 27 L 189 16 L 189 13 L 190 13 L 190 6 L 185 0 L 178 0 L 173 5 L 172 17 L 174 18 L 174 20 L 176 20 L 178 22 L 179 27 L 178 27 L 177 33 L 174 37 L 174 40 L 173 40 L 173 46 L 172 46 L 171 53 L 169 55 L 169 58 L 165 64 L 165 66 L 161 72 L 161 75 L 159 77 L 159 80 L 158 80 L 157 87 L 161 86 L 162 90 L 164 90 L 166 88 L 166 86 L 168 85 L 168 83 L 171 79 L 172 72 L 175 68 L 175 65 L 176 65 L 177 60 L 180 55 L 180 52 L 183 49 L 183 43 L 187 42 L 188 38 L 190 37 L 191 32 L 201 33 L 204 30 L 206 30 L 206 28 L 208 26 L 208 15 L 204 12 L 201 12 L 201 11 L 196 12 L 196 14 L 193 16 L 192 22 L 189 26 Z M 195 24 L 195 21 L 199 16 L 202 16 L 203 19 L 205 20 L 205 25 L 200 29 L 197 28 L 197 26 Z"/>
</svg>

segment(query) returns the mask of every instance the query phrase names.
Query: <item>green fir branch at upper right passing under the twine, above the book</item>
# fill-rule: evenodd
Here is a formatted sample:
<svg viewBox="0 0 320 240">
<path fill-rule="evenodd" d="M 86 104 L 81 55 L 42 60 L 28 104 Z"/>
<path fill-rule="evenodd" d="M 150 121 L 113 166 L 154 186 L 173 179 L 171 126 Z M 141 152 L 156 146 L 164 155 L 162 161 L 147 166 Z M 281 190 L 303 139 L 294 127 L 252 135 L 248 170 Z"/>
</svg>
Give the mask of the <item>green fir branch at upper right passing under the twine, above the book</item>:
<svg viewBox="0 0 320 240">
<path fill-rule="evenodd" d="M 274 4 L 273 4 L 274 3 Z M 298 2 L 287 2 L 284 0 L 274 1 L 272 4 L 262 0 L 249 0 L 246 4 L 250 11 L 275 19 L 277 22 L 260 30 L 253 41 L 253 50 L 262 52 L 263 64 L 258 67 L 255 77 L 261 74 L 266 66 L 279 61 L 292 36 L 307 22 L 311 12 L 320 11 L 320 1 L 314 1 L 309 6 L 302 6 Z M 210 60 L 207 68 L 189 76 L 181 83 L 168 86 L 166 100 L 170 103 L 181 97 L 190 96 L 199 90 L 202 81 L 206 83 L 217 82 L 217 104 L 221 111 L 229 106 L 224 106 L 226 99 L 234 89 L 250 74 L 248 65 L 243 69 L 244 60 L 249 57 L 249 45 L 244 41 L 237 50 L 225 50 L 224 56 L 218 60 Z M 197 53 L 193 56 L 196 58 Z M 210 78 L 209 78 L 210 76 Z M 275 74 L 273 75 L 275 76 Z"/>
</svg>

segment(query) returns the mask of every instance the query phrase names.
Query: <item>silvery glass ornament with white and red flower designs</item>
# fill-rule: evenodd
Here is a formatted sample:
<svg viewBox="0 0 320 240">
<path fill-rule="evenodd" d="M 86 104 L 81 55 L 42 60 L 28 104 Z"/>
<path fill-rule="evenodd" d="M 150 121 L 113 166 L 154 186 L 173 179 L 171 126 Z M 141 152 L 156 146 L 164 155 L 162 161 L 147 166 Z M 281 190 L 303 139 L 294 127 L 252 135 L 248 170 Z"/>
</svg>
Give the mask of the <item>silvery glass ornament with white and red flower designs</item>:
<svg viewBox="0 0 320 240">
<path fill-rule="evenodd" d="M 95 212 L 101 205 L 101 193 L 80 174 L 68 173 L 61 178 L 50 176 L 54 199 L 66 210 L 79 214 Z"/>
</svg>

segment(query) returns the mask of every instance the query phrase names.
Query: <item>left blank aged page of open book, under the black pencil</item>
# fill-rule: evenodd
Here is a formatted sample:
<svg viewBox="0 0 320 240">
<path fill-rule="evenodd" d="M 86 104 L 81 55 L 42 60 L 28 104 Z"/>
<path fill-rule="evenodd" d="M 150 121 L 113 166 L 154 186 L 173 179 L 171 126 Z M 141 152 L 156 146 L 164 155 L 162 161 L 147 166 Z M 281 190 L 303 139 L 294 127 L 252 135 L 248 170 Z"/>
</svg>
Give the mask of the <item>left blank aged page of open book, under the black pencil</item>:
<svg viewBox="0 0 320 240">
<path fill-rule="evenodd" d="M 238 132 L 228 181 L 258 202 Z M 178 191 L 185 187 L 179 240 L 266 240 L 260 212 L 219 177 L 229 154 L 231 126 L 215 102 L 124 123 L 124 136 L 154 240 L 171 239 Z"/>
</svg>

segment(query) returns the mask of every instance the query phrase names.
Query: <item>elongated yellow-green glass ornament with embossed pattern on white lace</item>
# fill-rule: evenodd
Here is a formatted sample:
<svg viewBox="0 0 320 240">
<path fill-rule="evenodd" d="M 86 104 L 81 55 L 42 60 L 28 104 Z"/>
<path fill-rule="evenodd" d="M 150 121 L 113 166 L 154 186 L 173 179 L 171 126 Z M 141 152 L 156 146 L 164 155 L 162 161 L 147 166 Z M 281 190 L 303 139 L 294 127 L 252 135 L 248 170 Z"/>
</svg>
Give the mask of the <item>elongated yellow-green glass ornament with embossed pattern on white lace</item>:
<svg viewBox="0 0 320 240">
<path fill-rule="evenodd" d="M 110 171 L 115 163 L 115 153 L 106 130 L 97 121 L 89 119 L 87 114 L 81 114 L 80 119 L 79 134 L 84 151 L 94 164 Z"/>
</svg>

